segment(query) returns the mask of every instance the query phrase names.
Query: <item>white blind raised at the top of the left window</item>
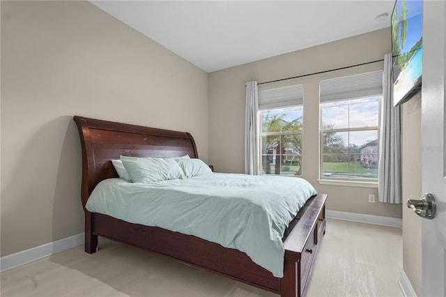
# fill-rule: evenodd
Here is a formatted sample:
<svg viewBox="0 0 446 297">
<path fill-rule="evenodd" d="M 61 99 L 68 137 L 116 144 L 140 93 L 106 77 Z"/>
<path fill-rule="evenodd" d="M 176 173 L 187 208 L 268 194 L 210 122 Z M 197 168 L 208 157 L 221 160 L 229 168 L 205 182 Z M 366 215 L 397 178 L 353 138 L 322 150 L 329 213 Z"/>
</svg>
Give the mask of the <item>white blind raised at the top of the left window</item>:
<svg viewBox="0 0 446 297">
<path fill-rule="evenodd" d="M 259 91 L 259 110 L 302 105 L 303 85 Z"/>
</svg>

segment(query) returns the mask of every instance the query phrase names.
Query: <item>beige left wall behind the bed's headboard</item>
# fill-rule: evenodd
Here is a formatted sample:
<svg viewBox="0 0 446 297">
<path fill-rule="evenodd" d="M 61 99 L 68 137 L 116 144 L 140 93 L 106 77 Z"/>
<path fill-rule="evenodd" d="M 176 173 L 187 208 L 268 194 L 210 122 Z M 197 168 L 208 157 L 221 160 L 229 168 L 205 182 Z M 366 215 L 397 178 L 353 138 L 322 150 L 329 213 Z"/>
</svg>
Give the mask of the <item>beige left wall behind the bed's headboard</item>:
<svg viewBox="0 0 446 297">
<path fill-rule="evenodd" d="M 1 1 L 1 255 L 84 231 L 73 115 L 183 130 L 208 74 L 87 1 Z"/>
</svg>

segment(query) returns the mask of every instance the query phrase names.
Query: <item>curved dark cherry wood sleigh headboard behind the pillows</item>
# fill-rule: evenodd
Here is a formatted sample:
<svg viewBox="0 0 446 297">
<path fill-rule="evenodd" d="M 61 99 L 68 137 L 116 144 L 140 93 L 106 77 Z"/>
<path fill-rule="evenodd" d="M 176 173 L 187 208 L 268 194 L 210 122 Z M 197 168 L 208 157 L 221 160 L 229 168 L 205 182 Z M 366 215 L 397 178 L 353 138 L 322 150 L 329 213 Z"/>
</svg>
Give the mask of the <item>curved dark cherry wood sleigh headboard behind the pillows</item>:
<svg viewBox="0 0 446 297">
<path fill-rule="evenodd" d="M 106 178 L 118 177 L 111 160 L 132 157 L 198 158 L 190 133 L 74 116 L 82 146 L 82 205 Z"/>
</svg>

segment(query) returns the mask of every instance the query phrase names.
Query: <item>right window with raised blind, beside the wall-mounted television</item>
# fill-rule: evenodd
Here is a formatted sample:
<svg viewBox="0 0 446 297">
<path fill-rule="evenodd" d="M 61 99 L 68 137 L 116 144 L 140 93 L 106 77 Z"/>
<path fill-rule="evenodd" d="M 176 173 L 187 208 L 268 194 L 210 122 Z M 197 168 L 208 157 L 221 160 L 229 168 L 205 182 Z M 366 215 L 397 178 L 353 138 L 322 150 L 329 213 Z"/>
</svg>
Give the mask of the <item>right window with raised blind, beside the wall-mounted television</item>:
<svg viewBox="0 0 446 297">
<path fill-rule="evenodd" d="M 321 178 L 377 181 L 382 77 L 377 71 L 321 82 Z"/>
</svg>

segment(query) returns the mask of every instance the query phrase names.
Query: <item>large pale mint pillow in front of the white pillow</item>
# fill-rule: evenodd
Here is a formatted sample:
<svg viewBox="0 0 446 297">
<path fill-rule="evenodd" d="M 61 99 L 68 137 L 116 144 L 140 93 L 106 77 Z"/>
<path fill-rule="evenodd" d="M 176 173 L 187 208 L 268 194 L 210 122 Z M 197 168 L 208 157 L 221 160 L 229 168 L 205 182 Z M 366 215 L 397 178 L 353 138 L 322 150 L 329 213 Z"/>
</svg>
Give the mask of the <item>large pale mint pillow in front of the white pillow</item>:
<svg viewBox="0 0 446 297">
<path fill-rule="evenodd" d="M 133 183 L 150 183 L 184 177 L 183 170 L 174 158 L 135 158 L 121 155 L 121 160 Z"/>
</svg>

